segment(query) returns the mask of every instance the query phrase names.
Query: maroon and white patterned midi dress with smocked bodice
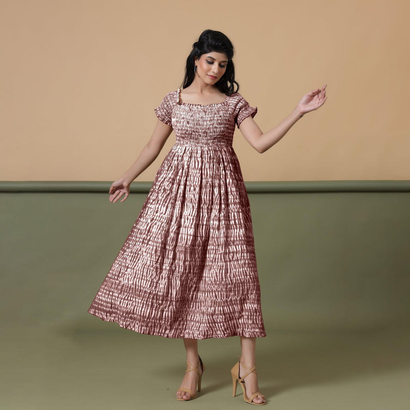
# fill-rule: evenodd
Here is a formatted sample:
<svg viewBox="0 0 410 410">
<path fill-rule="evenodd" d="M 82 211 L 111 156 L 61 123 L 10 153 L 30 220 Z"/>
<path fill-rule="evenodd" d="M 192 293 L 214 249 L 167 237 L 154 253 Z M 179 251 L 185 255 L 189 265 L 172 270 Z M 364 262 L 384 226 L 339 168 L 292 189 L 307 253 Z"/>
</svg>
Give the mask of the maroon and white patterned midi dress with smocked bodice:
<svg viewBox="0 0 410 410">
<path fill-rule="evenodd" d="M 89 313 L 169 338 L 266 336 L 249 198 L 232 148 L 254 116 L 238 93 L 220 104 L 168 93 L 157 117 L 176 135 Z"/>
</svg>

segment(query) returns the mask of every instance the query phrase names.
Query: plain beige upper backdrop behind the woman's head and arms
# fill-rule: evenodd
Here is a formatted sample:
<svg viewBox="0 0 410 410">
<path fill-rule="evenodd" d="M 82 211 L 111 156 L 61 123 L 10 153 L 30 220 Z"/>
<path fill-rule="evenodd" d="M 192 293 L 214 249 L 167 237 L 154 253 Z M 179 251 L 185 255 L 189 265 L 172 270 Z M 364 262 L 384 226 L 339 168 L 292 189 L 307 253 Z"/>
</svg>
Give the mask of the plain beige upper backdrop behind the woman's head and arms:
<svg viewBox="0 0 410 410">
<path fill-rule="evenodd" d="M 234 43 L 268 130 L 313 88 L 329 99 L 273 149 L 237 131 L 245 180 L 410 179 L 405 0 L 0 0 L 2 180 L 113 180 L 181 84 L 203 29 Z M 137 180 L 153 180 L 174 141 Z"/>
</svg>

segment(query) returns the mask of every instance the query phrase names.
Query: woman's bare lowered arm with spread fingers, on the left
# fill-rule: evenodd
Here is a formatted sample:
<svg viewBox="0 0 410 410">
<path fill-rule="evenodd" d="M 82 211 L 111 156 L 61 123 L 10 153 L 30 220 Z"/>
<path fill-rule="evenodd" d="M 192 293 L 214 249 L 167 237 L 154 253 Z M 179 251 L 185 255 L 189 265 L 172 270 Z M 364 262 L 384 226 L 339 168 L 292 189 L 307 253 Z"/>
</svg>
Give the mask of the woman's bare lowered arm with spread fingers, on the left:
<svg viewBox="0 0 410 410">
<path fill-rule="evenodd" d="M 125 195 L 120 202 L 124 202 L 130 193 L 131 182 L 143 171 L 145 171 L 158 156 L 168 137 L 171 135 L 172 127 L 158 119 L 157 125 L 152 133 L 147 145 L 142 149 L 133 165 L 114 181 L 110 187 L 110 202 L 117 202 L 122 195 Z"/>
</svg>

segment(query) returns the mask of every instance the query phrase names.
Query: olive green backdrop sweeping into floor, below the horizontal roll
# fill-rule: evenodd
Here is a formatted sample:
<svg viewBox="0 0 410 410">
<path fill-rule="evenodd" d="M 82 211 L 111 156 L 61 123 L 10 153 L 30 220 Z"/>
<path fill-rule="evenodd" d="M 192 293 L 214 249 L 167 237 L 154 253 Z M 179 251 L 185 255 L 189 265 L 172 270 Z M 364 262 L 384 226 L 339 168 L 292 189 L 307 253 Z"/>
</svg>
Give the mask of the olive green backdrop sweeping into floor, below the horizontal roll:
<svg viewBox="0 0 410 410">
<path fill-rule="evenodd" d="M 316 189 L 250 193 L 266 408 L 408 410 L 410 189 Z M 181 340 L 87 313 L 146 194 L 2 193 L 0 410 L 252 408 L 232 397 L 239 338 L 199 342 L 202 392 L 180 402 Z"/>
</svg>

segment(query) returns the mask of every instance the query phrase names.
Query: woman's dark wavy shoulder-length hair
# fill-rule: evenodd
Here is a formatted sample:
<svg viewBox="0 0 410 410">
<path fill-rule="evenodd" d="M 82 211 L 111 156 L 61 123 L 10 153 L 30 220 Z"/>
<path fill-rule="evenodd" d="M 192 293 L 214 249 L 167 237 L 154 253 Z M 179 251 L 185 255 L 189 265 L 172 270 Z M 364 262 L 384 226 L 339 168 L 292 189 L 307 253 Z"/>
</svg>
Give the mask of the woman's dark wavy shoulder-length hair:
<svg viewBox="0 0 410 410">
<path fill-rule="evenodd" d="M 198 41 L 192 45 L 192 51 L 187 58 L 187 65 L 185 67 L 185 77 L 183 78 L 182 88 L 187 88 L 192 84 L 195 78 L 195 57 L 199 58 L 202 54 L 223 53 L 228 57 L 228 64 L 225 73 L 215 83 L 218 90 L 226 95 L 232 95 L 239 90 L 239 84 L 235 81 L 235 68 L 232 61 L 234 56 L 234 46 L 231 40 L 220 31 L 205 30 L 201 33 Z M 236 90 L 235 90 L 236 85 Z"/>
</svg>

